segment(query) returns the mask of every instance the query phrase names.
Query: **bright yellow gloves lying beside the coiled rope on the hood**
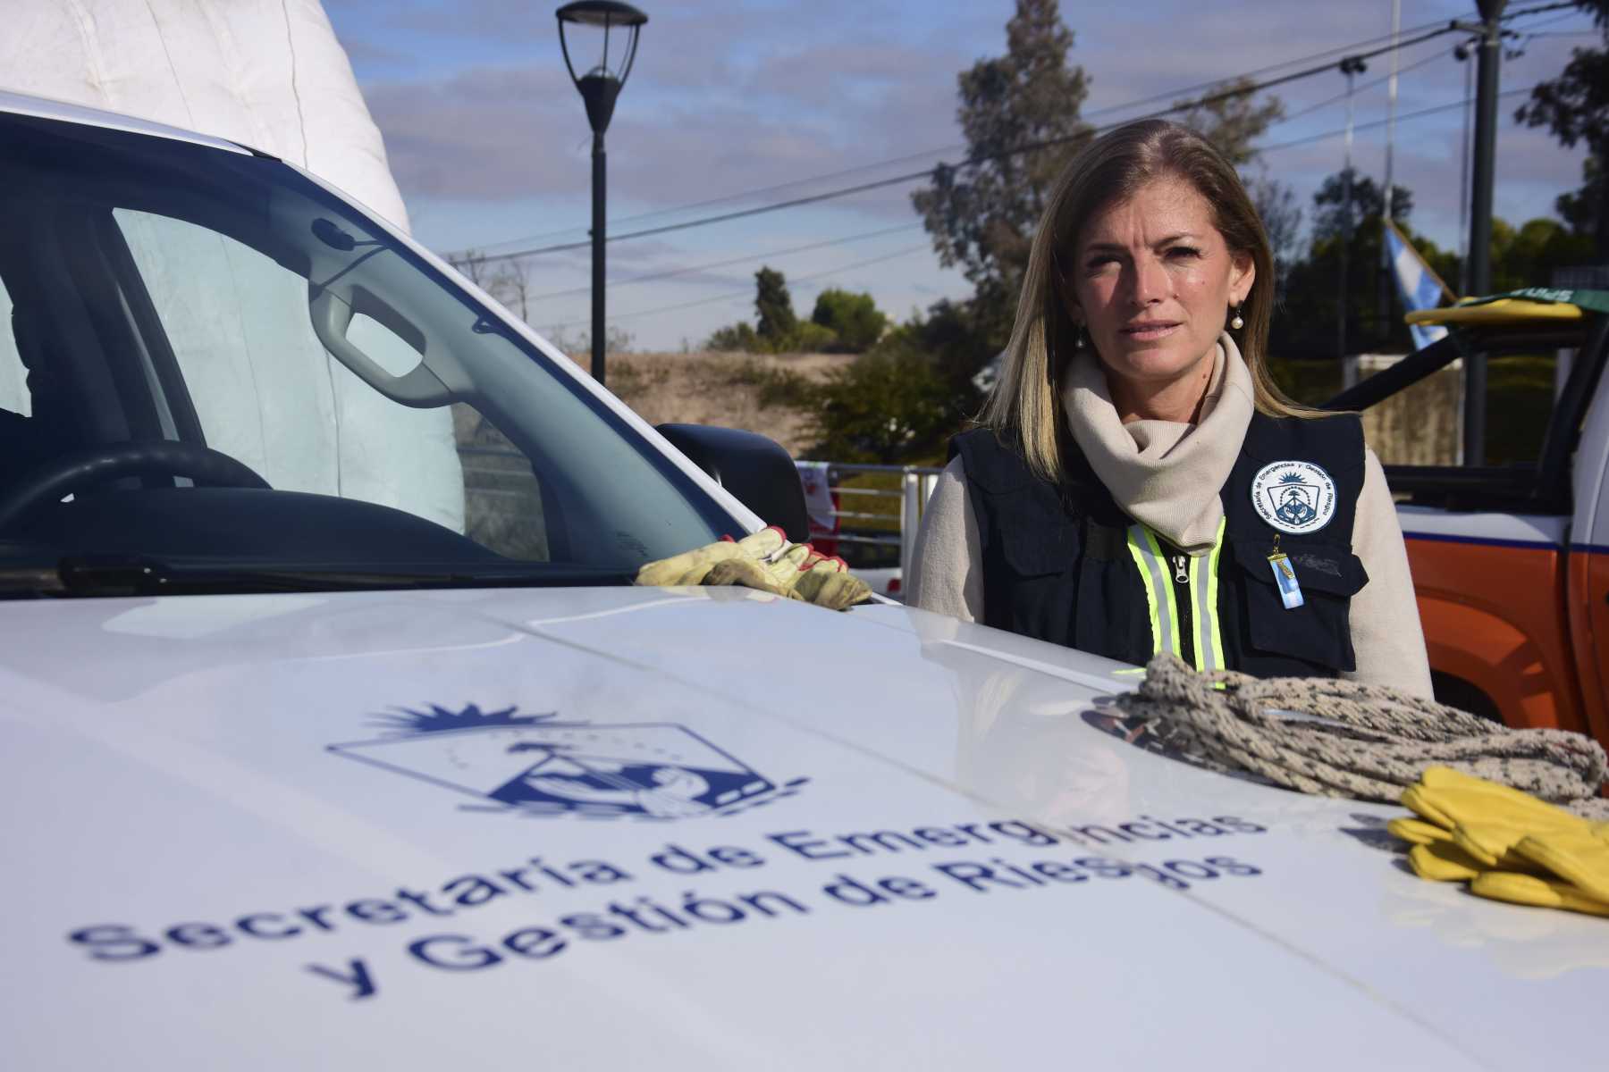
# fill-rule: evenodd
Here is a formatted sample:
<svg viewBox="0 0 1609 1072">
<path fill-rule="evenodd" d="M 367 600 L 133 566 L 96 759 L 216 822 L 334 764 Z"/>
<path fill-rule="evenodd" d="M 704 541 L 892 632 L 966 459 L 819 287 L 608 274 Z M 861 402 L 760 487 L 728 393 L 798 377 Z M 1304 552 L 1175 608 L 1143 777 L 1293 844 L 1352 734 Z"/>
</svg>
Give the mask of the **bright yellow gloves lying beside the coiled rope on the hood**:
<svg viewBox="0 0 1609 1072">
<path fill-rule="evenodd" d="M 1543 908 L 1609 916 L 1609 823 L 1450 767 L 1430 767 L 1403 791 L 1419 818 L 1392 820 L 1413 844 L 1408 863 L 1432 882 Z"/>
</svg>

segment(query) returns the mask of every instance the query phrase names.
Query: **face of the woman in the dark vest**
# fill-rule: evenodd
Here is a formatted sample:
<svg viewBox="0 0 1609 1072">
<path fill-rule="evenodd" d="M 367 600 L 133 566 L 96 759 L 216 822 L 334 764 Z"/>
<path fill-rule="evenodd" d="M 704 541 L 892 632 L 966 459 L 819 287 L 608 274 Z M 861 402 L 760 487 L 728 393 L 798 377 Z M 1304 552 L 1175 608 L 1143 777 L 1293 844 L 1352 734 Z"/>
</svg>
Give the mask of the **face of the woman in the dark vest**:
<svg viewBox="0 0 1609 1072">
<path fill-rule="evenodd" d="M 1176 177 L 1094 214 L 1057 260 L 1068 315 L 1088 328 L 1107 376 L 1139 394 L 1199 368 L 1255 276 L 1249 256 L 1229 252 L 1207 199 Z"/>
</svg>

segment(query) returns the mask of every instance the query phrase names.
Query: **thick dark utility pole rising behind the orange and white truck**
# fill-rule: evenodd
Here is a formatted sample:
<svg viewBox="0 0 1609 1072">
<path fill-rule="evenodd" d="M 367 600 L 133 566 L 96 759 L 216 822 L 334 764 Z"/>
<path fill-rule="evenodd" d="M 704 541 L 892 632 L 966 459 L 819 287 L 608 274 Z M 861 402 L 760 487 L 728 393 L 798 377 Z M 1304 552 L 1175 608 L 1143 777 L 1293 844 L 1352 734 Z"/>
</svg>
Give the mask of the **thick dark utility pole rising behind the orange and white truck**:
<svg viewBox="0 0 1609 1072">
<path fill-rule="evenodd" d="M 1469 294 L 1492 291 L 1492 188 L 1498 141 L 1498 64 L 1503 63 L 1503 8 L 1508 0 L 1475 0 L 1480 24 L 1475 68 L 1475 153 L 1469 191 Z M 1464 357 L 1464 464 L 1487 458 L 1487 358 Z"/>
</svg>

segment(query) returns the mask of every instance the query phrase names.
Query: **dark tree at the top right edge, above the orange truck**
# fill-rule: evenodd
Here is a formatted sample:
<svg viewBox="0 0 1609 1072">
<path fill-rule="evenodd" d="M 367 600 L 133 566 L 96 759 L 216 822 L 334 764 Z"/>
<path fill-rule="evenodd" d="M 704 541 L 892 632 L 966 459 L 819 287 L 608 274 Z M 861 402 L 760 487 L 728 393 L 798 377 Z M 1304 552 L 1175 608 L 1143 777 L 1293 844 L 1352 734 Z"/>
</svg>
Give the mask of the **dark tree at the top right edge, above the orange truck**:
<svg viewBox="0 0 1609 1072">
<path fill-rule="evenodd" d="M 1540 82 L 1514 119 L 1548 127 L 1566 148 L 1586 143 L 1582 188 L 1559 199 L 1559 214 L 1609 256 L 1609 0 L 1575 0 L 1603 31 L 1603 48 L 1575 48 L 1559 77 Z"/>
</svg>

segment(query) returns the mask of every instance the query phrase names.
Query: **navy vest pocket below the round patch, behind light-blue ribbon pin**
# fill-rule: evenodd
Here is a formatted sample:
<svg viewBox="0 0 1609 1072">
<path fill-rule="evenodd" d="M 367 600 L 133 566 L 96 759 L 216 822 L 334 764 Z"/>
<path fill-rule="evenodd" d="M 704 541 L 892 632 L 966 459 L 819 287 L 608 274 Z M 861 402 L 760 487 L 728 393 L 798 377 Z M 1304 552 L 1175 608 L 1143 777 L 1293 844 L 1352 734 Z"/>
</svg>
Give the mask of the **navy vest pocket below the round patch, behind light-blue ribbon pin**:
<svg viewBox="0 0 1609 1072">
<path fill-rule="evenodd" d="M 1292 540 L 1290 556 L 1302 606 L 1286 609 L 1268 563 L 1273 540 L 1234 540 L 1234 567 L 1244 577 L 1245 619 L 1253 649 L 1298 659 L 1329 673 L 1356 670 L 1352 651 L 1352 596 L 1369 582 L 1363 563 L 1340 545 Z"/>
</svg>

